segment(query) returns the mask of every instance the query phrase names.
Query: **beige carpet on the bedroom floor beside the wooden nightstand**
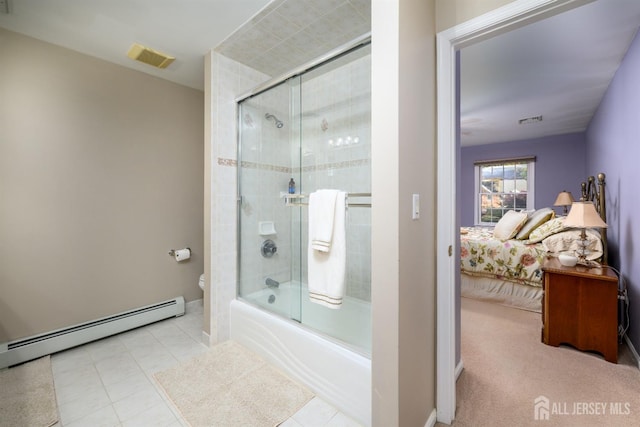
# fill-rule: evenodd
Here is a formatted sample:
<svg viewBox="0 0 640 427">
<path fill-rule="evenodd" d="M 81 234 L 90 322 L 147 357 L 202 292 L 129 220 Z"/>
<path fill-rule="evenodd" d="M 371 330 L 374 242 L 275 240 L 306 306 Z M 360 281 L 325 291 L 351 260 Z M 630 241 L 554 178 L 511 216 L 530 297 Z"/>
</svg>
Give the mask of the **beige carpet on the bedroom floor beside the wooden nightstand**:
<svg viewBox="0 0 640 427">
<path fill-rule="evenodd" d="M 626 345 L 613 364 L 543 344 L 539 313 L 462 298 L 461 316 L 454 426 L 640 425 L 640 371 Z M 540 396 L 548 420 L 535 419 Z"/>
</svg>

